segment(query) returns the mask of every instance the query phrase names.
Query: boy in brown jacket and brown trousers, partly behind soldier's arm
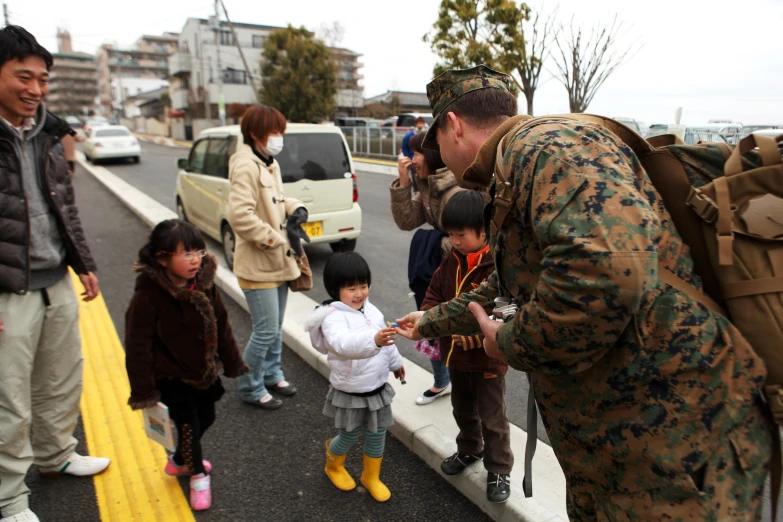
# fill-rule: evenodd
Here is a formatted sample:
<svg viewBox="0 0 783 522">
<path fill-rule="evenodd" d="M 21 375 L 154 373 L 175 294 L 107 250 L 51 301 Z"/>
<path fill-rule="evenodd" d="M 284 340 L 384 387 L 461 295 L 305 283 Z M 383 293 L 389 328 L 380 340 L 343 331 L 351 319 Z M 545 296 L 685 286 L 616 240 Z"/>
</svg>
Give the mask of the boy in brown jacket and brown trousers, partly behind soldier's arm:
<svg viewBox="0 0 783 522">
<path fill-rule="evenodd" d="M 474 290 L 495 270 L 484 229 L 484 205 L 483 193 L 461 191 L 443 209 L 441 222 L 453 249 L 432 276 L 422 310 Z M 487 499 L 505 502 L 511 494 L 509 475 L 514 465 L 505 402 L 508 365 L 487 356 L 480 336 L 442 338 L 440 360 L 449 369 L 451 404 L 460 429 L 457 453 L 443 461 L 441 470 L 457 475 L 483 458 Z"/>
</svg>

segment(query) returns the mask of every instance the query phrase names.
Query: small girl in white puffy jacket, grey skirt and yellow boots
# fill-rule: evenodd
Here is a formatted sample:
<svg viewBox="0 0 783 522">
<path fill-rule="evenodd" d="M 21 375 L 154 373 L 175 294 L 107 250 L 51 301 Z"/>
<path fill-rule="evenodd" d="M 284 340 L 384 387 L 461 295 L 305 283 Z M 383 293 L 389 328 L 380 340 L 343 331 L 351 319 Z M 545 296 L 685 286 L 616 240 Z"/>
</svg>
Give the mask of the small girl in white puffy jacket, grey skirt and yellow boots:
<svg viewBox="0 0 783 522">
<path fill-rule="evenodd" d="M 386 428 L 394 424 L 389 372 L 404 382 L 405 368 L 394 329 L 386 327 L 383 314 L 367 299 L 371 280 L 362 256 L 334 254 L 324 268 L 324 286 L 332 299 L 307 318 L 305 328 L 332 370 L 324 415 L 340 431 L 326 441 L 326 475 L 340 490 L 356 487 L 345 470 L 345 456 L 364 431 L 361 481 L 375 500 L 385 502 L 391 493 L 380 480 L 381 461 Z"/>
</svg>

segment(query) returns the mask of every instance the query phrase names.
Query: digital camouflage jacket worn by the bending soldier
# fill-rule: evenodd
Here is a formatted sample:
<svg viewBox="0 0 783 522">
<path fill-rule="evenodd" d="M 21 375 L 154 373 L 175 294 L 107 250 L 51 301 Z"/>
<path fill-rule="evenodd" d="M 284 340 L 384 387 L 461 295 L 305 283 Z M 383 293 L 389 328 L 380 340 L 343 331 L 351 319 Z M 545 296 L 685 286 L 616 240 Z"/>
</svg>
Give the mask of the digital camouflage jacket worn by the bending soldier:
<svg viewBox="0 0 783 522">
<path fill-rule="evenodd" d="M 498 128 L 467 172 L 490 179 L 518 122 Z M 659 282 L 669 270 L 701 286 L 632 150 L 595 124 L 534 120 L 508 137 L 501 168 L 514 198 L 490 239 L 496 271 L 427 312 L 419 331 L 475 334 L 470 302 L 490 313 L 498 295 L 519 301 L 497 341 L 513 368 L 533 374 L 569 511 L 580 492 L 693 490 L 728 444 L 746 471 L 768 460 L 741 429 L 764 364 L 728 319 Z"/>
</svg>

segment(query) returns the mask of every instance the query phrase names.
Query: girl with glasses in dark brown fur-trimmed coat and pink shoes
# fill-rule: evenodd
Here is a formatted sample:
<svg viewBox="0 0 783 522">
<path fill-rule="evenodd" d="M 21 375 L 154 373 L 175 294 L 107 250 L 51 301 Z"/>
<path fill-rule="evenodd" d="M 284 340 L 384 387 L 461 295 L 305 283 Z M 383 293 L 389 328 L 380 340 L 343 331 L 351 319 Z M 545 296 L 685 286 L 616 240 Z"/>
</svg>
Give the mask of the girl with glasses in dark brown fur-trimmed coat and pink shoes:
<svg viewBox="0 0 783 522">
<path fill-rule="evenodd" d="M 139 276 L 125 314 L 128 404 L 168 406 L 178 438 L 165 472 L 190 475 L 191 507 L 209 509 L 212 465 L 203 460 L 201 437 L 225 393 L 218 373 L 248 371 L 215 287 L 217 263 L 196 227 L 171 219 L 155 227 L 133 269 Z"/>
</svg>

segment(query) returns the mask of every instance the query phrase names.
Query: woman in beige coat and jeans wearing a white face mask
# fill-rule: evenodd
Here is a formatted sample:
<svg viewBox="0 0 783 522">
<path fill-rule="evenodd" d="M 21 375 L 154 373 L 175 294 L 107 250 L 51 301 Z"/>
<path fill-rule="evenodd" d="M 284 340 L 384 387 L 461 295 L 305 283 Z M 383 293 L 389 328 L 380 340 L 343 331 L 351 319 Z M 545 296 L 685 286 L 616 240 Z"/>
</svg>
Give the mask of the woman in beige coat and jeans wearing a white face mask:
<svg viewBox="0 0 783 522">
<path fill-rule="evenodd" d="M 228 221 L 236 236 L 234 273 L 245 293 L 253 333 L 245 363 L 250 372 L 237 380 L 241 399 L 274 410 L 283 403 L 269 392 L 296 393 L 280 367 L 282 325 L 288 283 L 299 277 L 294 254 L 302 251 L 301 224 L 307 209 L 301 201 L 286 198 L 280 166 L 274 156 L 283 149 L 286 121 L 280 112 L 254 105 L 242 116 L 242 145 L 229 161 L 231 190 Z"/>
</svg>

